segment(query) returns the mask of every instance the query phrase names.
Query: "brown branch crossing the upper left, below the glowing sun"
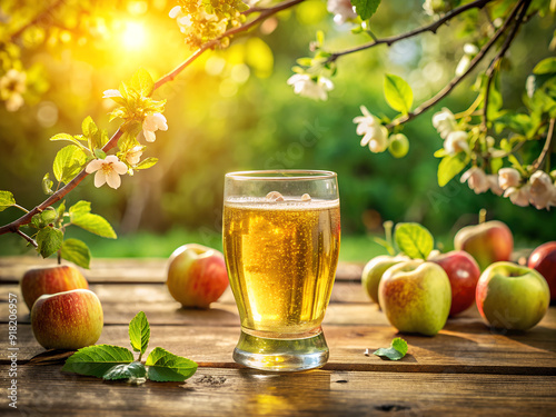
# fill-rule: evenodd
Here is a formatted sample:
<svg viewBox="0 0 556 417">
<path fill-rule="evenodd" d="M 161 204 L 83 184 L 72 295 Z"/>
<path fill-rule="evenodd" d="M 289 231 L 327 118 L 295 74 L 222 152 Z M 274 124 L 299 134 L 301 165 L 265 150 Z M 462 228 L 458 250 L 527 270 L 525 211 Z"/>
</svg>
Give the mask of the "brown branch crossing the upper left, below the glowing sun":
<svg viewBox="0 0 556 417">
<path fill-rule="evenodd" d="M 300 3 L 304 0 L 289 0 L 281 2 L 279 4 L 276 4 L 275 7 L 265 9 L 265 10 L 259 10 L 260 14 L 249 21 L 248 23 L 245 23 L 240 26 L 239 28 L 234 28 L 228 30 L 226 33 L 224 33 L 221 37 L 207 42 L 203 44 L 201 48 L 199 48 L 197 51 L 195 51 L 186 61 L 183 61 L 181 64 L 176 67 L 171 72 L 167 73 L 162 78 L 160 78 L 157 82 L 155 82 L 153 90 L 162 87 L 165 83 L 172 81 L 181 71 L 183 71 L 189 64 L 191 64 L 197 58 L 199 58 L 205 51 L 214 48 L 219 43 L 219 41 L 224 38 L 231 37 L 234 34 L 247 31 L 248 29 L 252 28 L 255 24 L 266 20 L 268 17 L 278 13 L 281 10 L 286 10 L 290 7 L 294 7 L 298 3 Z M 118 140 L 120 139 L 122 135 L 121 127 L 118 128 L 118 130 L 112 135 L 110 140 L 102 147 L 102 150 L 105 152 L 109 151 L 110 149 L 115 148 L 118 145 Z M 19 234 L 19 228 L 23 225 L 27 225 L 31 221 L 32 217 L 44 210 L 47 207 L 52 206 L 57 201 L 61 200 L 68 192 L 70 192 L 73 188 L 76 188 L 89 173 L 83 169 L 81 172 L 79 172 L 70 182 L 68 182 L 66 186 L 57 190 L 53 195 L 51 195 L 49 198 L 47 198 L 44 201 L 42 201 L 39 206 L 34 207 L 32 210 L 28 211 L 26 215 L 21 216 L 20 218 L 13 220 L 12 222 L 0 227 L 0 235 L 13 232 L 13 234 Z"/>
</svg>

